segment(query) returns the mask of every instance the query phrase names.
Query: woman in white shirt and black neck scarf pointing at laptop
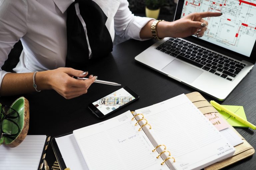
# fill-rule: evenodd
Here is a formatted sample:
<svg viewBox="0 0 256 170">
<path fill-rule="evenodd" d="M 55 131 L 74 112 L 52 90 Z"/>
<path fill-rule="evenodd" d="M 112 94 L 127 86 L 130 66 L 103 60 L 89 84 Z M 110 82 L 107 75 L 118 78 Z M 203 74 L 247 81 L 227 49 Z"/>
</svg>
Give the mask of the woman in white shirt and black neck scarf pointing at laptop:
<svg viewBox="0 0 256 170">
<path fill-rule="evenodd" d="M 0 95 L 54 89 L 66 99 L 80 96 L 87 93 L 97 76 L 74 79 L 88 75 L 74 68 L 79 64 L 82 68 L 91 57 L 111 52 L 115 32 L 126 39 L 145 40 L 153 37 L 154 25 L 156 39 L 202 37 L 208 24 L 202 18 L 220 15 L 193 13 L 174 22 L 155 22 L 134 16 L 127 0 L 0 0 L 0 66 L 16 42 L 21 40 L 23 45 L 15 73 L 0 71 Z"/>
</svg>

